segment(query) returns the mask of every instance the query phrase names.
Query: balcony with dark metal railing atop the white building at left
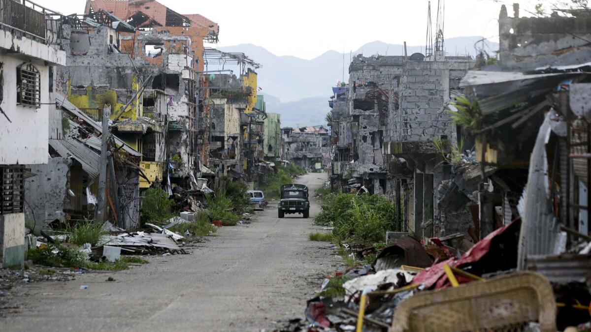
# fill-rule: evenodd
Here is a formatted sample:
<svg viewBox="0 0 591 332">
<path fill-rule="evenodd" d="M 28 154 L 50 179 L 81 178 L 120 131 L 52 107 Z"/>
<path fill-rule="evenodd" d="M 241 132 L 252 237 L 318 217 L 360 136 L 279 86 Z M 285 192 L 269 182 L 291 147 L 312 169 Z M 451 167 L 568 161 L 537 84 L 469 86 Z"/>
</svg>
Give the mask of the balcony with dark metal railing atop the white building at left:
<svg viewBox="0 0 591 332">
<path fill-rule="evenodd" d="M 59 41 L 61 14 L 28 0 L 0 0 L 0 24 L 54 44 Z"/>
</svg>

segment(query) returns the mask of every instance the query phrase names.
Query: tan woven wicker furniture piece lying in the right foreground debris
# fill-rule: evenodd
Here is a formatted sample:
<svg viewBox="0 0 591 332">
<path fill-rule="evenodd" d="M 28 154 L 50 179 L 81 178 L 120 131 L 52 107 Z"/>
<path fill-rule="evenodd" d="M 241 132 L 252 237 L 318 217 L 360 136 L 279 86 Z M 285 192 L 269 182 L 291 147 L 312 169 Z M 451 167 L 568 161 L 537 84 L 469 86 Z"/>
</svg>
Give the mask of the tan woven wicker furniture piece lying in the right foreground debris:
<svg viewBox="0 0 591 332">
<path fill-rule="evenodd" d="M 514 331 L 531 322 L 556 331 L 554 294 L 544 276 L 516 272 L 417 293 L 397 308 L 391 331 Z"/>
</svg>

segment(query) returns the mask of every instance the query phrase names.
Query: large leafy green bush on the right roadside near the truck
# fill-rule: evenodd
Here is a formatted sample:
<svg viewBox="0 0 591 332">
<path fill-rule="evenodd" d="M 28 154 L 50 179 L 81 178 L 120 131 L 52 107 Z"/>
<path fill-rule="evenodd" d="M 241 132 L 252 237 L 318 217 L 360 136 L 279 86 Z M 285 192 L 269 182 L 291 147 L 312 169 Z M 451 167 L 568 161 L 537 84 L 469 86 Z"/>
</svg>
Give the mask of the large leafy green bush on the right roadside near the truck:
<svg viewBox="0 0 591 332">
<path fill-rule="evenodd" d="M 329 194 L 314 219 L 320 226 L 333 226 L 337 242 L 382 242 L 394 230 L 396 206 L 381 195 Z"/>
</svg>

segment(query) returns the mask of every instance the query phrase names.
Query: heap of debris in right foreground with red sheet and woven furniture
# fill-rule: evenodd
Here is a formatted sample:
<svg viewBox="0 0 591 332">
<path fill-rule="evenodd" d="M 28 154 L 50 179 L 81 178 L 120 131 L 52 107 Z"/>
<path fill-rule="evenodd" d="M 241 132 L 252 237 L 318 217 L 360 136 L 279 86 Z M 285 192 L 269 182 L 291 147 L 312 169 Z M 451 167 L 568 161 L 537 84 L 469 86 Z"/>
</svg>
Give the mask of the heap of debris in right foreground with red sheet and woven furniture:
<svg viewBox="0 0 591 332">
<path fill-rule="evenodd" d="M 500 227 L 461 255 L 443 245 L 447 258 L 402 236 L 374 265 L 333 277 L 342 286 L 325 280 L 305 317 L 278 331 L 544 332 L 589 324 L 591 245 L 580 246 L 579 261 L 537 261 L 536 272 L 518 271 L 520 229 L 519 220 Z"/>
</svg>

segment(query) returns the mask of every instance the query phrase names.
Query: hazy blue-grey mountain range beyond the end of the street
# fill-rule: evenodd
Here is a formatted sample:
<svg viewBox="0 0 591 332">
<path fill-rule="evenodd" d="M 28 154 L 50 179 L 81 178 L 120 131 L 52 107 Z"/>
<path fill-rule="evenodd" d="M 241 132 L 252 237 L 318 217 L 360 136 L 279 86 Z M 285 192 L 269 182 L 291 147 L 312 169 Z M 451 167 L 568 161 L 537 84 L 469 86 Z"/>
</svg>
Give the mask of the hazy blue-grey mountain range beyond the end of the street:
<svg viewBox="0 0 591 332">
<path fill-rule="evenodd" d="M 445 41 L 449 56 L 475 56 L 477 50 L 484 48 L 494 54 L 499 45 L 491 41 L 482 42 L 482 37 L 456 37 Z M 407 46 L 407 54 L 424 53 L 424 46 Z M 263 47 L 253 44 L 240 44 L 219 47 L 224 52 L 242 52 L 261 64 L 257 69 L 259 93 L 265 95 L 267 112 L 281 114 L 281 126 L 308 126 L 324 124 L 324 116 L 330 111 L 328 106 L 331 87 L 337 81 L 348 81 L 348 68 L 352 57 L 363 56 L 402 56 L 404 46 L 373 41 L 359 47 L 356 51 L 326 53 L 306 60 L 294 56 L 276 56 Z M 344 66 L 343 66 L 344 64 Z M 226 67 L 227 68 L 227 67 Z M 214 70 L 209 66 L 209 70 Z M 343 70 L 344 69 L 344 70 Z"/>
</svg>

